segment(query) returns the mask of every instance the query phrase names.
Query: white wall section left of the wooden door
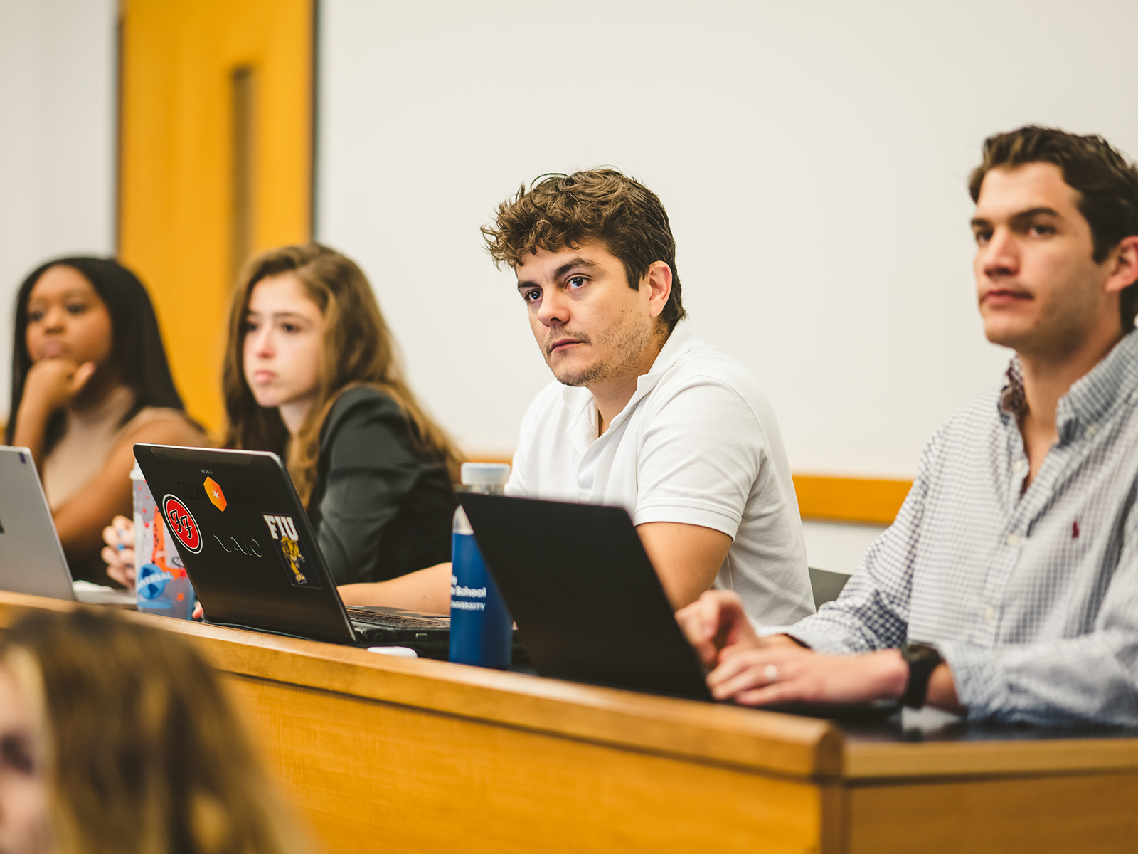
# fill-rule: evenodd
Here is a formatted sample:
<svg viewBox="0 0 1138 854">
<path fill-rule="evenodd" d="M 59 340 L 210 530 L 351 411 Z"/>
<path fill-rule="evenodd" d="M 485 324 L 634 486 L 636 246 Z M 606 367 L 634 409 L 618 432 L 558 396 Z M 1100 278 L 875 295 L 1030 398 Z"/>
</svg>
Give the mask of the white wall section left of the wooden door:
<svg viewBox="0 0 1138 854">
<path fill-rule="evenodd" d="M 0 421 L 11 310 L 52 255 L 114 249 L 116 0 L 0 0 Z"/>
</svg>

